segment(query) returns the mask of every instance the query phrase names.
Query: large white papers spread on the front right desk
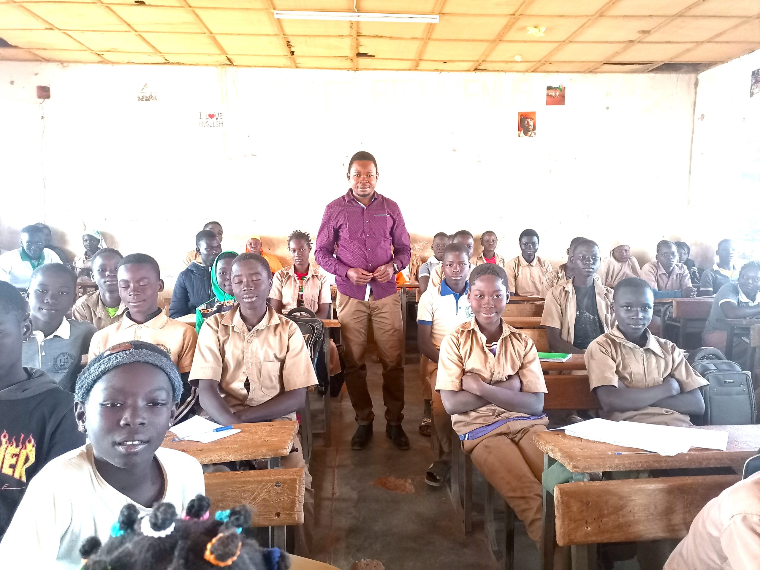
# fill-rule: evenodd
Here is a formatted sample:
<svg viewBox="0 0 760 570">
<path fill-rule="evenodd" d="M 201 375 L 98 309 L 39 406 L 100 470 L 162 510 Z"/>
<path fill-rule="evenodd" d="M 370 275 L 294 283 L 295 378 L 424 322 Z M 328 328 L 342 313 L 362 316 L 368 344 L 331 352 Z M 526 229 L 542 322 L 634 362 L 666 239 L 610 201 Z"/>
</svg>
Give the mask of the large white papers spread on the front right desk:
<svg viewBox="0 0 760 570">
<path fill-rule="evenodd" d="M 591 439 L 592 442 L 645 449 L 660 455 L 686 453 L 690 448 L 726 451 L 728 445 L 728 432 L 712 429 L 653 426 L 649 423 L 613 422 L 601 418 L 573 423 L 570 426 L 558 429 L 564 429 L 568 435 Z"/>
</svg>

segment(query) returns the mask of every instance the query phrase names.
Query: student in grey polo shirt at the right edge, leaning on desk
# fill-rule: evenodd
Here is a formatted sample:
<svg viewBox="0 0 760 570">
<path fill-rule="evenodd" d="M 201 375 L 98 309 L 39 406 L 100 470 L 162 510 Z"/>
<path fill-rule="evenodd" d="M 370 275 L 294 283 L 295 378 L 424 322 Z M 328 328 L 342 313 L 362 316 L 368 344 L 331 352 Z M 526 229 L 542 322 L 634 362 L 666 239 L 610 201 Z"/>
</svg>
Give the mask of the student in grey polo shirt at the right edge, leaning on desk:
<svg viewBox="0 0 760 570">
<path fill-rule="evenodd" d="M 728 327 L 718 321 L 720 318 L 760 317 L 760 261 L 749 261 L 739 270 L 736 283 L 726 283 L 715 295 L 710 315 L 702 332 L 702 344 L 726 350 Z M 741 334 L 734 335 L 733 359 L 746 363 L 749 343 Z"/>
</svg>

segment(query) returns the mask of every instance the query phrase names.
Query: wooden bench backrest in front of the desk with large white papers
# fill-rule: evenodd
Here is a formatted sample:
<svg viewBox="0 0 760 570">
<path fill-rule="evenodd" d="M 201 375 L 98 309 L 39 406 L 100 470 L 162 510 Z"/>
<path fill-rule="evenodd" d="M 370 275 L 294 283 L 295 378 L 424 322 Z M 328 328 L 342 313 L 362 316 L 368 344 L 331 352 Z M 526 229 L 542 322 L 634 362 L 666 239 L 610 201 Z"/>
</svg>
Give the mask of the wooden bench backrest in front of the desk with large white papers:
<svg viewBox="0 0 760 570">
<path fill-rule="evenodd" d="M 738 475 L 563 483 L 554 488 L 559 546 L 682 538 Z"/>
</svg>

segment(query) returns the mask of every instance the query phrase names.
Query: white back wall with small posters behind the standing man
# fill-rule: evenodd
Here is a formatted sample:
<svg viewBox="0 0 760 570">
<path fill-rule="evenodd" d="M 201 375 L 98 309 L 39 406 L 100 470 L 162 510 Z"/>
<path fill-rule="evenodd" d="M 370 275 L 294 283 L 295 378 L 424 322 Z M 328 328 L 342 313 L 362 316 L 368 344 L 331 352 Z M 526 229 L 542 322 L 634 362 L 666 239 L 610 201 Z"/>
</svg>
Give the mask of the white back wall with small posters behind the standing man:
<svg viewBox="0 0 760 570">
<path fill-rule="evenodd" d="M 566 105 L 546 107 L 560 81 Z M 138 102 L 146 83 L 157 102 Z M 52 93 L 42 107 L 38 84 Z M 217 219 L 224 245 L 256 232 L 284 255 L 283 236 L 316 232 L 363 149 L 420 247 L 438 231 L 492 229 L 511 257 L 533 227 L 548 258 L 581 234 L 648 261 L 663 236 L 701 232 L 686 216 L 694 96 L 689 75 L 2 62 L 0 246 L 45 220 L 78 251 L 87 224 L 173 275 Z M 527 110 L 534 139 L 517 137 Z M 199 127 L 199 112 L 222 112 L 223 128 Z"/>
</svg>

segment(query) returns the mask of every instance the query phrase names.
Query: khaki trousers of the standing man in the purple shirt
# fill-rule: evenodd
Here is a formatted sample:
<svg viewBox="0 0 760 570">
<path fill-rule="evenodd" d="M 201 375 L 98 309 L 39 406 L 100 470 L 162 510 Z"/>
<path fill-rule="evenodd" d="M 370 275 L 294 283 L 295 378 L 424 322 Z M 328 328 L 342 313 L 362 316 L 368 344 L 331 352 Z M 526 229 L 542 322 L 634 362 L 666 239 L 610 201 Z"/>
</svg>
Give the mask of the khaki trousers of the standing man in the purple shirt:
<svg viewBox="0 0 760 570">
<path fill-rule="evenodd" d="M 401 323 L 401 297 L 398 292 L 379 301 L 370 294 L 369 301 L 353 299 L 337 293 L 337 318 L 340 337 L 345 347 L 346 388 L 356 412 L 356 423 L 367 425 L 375 420 L 372 397 L 367 389 L 367 331 L 372 332 L 382 363 L 382 397 L 385 420 L 401 425 L 404 419 L 404 365 L 401 362 L 401 343 L 404 327 Z"/>
</svg>

